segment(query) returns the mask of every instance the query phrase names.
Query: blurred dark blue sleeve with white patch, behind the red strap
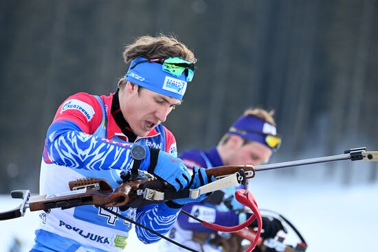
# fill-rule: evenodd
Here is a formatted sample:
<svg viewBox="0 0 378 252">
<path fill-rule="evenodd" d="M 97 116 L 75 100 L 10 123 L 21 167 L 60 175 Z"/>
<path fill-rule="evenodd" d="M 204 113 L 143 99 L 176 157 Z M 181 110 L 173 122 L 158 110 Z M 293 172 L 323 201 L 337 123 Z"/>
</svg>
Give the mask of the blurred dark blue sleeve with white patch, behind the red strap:
<svg viewBox="0 0 378 252">
<path fill-rule="evenodd" d="M 211 204 L 201 204 L 201 203 L 189 203 L 183 207 L 184 211 L 196 216 L 201 220 L 207 222 L 215 223 L 222 226 L 235 226 L 239 224 L 239 216 L 235 214 L 234 211 L 219 211 L 215 208 L 215 205 Z M 178 218 L 179 225 L 181 228 L 198 231 L 198 232 L 214 232 L 213 229 L 208 229 L 201 225 L 200 222 L 192 220 L 184 214 L 180 214 Z"/>
</svg>

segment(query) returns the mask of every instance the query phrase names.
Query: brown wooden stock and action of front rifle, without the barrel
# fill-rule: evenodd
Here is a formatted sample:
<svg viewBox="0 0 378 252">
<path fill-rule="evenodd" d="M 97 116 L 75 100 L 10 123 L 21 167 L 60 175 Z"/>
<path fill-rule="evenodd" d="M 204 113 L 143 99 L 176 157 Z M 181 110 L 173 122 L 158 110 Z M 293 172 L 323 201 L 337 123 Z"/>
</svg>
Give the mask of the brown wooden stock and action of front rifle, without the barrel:
<svg viewBox="0 0 378 252">
<path fill-rule="evenodd" d="M 241 172 L 243 169 L 245 172 Z M 243 173 L 244 176 L 239 175 Z M 212 192 L 214 188 L 237 186 L 245 179 L 254 177 L 252 165 L 220 166 L 207 170 L 208 175 L 217 178 L 211 187 L 200 187 L 188 190 L 192 198 L 201 194 Z M 245 175 L 246 174 L 246 175 Z M 230 175 L 230 176 L 227 176 Z M 19 207 L 0 213 L 0 220 L 19 218 L 25 215 L 27 208 L 30 211 L 49 211 L 49 209 L 68 209 L 80 205 L 96 205 L 102 207 L 140 207 L 142 205 L 168 201 L 178 198 L 182 194 L 175 194 L 164 181 L 156 178 L 138 179 L 122 183 L 113 190 L 113 187 L 104 179 L 88 178 L 69 181 L 69 192 L 30 196 L 30 190 L 14 190 L 10 193 L 12 198 L 21 198 Z M 219 186 L 219 187 L 218 187 Z M 216 189 L 219 190 L 219 189 Z M 170 196 L 165 196 L 164 193 Z M 185 196 L 184 196 L 185 197 Z"/>
</svg>

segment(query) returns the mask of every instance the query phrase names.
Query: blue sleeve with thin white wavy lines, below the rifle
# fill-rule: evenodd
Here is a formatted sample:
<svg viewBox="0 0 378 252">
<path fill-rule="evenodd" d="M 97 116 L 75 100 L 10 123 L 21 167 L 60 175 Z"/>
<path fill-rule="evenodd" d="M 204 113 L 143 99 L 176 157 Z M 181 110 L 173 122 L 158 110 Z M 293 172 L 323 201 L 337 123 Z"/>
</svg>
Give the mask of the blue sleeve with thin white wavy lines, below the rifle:
<svg viewBox="0 0 378 252">
<path fill-rule="evenodd" d="M 163 235 L 172 229 L 181 208 L 174 209 L 165 203 L 147 205 L 137 209 L 137 222 Z M 159 241 L 161 238 L 142 227 L 135 226 L 137 238 L 145 244 Z"/>
</svg>

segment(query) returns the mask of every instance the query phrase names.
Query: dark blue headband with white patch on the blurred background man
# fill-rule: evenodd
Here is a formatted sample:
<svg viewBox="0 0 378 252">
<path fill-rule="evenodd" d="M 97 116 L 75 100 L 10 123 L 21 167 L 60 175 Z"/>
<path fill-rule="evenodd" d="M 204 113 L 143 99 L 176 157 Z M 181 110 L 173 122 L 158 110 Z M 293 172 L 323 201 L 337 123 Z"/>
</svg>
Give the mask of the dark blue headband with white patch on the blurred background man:
<svg viewBox="0 0 378 252">
<path fill-rule="evenodd" d="M 265 142 L 265 136 L 277 135 L 277 130 L 275 126 L 254 115 L 242 115 L 232 124 L 227 133 L 268 146 Z"/>
</svg>

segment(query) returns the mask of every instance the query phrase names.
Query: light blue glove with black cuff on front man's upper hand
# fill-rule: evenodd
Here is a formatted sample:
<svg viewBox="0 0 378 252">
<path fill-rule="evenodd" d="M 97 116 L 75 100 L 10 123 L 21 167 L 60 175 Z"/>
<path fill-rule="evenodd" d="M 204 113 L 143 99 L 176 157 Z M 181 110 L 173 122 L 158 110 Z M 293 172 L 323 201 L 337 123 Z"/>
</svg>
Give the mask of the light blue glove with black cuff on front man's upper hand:
<svg viewBox="0 0 378 252">
<path fill-rule="evenodd" d="M 191 179 L 191 175 L 181 159 L 152 148 L 148 172 L 175 187 L 176 191 L 183 190 Z"/>
</svg>

